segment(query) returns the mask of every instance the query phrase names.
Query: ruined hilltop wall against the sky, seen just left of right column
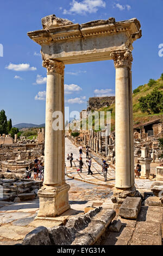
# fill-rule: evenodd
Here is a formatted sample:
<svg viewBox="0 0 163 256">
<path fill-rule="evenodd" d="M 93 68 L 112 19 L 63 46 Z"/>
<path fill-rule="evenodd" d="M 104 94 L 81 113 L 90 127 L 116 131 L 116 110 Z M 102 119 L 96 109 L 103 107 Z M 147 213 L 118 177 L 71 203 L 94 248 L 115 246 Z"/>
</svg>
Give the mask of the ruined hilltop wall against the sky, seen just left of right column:
<svg viewBox="0 0 163 256">
<path fill-rule="evenodd" d="M 115 102 L 115 96 L 90 97 L 89 98 L 89 107 L 87 107 L 87 111 L 97 110 L 101 107 L 110 106 L 114 102 Z"/>
</svg>

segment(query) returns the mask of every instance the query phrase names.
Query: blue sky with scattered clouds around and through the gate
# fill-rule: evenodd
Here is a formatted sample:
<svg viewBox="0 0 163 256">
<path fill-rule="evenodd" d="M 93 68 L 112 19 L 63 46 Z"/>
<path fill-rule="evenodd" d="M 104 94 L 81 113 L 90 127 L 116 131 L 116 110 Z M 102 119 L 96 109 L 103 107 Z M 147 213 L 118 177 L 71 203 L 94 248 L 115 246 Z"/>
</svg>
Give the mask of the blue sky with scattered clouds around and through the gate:
<svg viewBox="0 0 163 256">
<path fill-rule="evenodd" d="M 45 123 L 46 69 L 39 54 L 41 47 L 27 36 L 29 31 L 42 29 L 42 17 L 55 14 L 74 23 L 136 17 L 142 38 L 133 44 L 134 89 L 163 72 L 163 57 L 158 54 L 160 44 L 163 48 L 162 10 L 162 0 L 1 1 L 0 109 L 5 110 L 12 124 Z M 65 84 L 65 106 L 70 107 L 70 112 L 81 111 L 89 97 L 115 94 L 114 63 L 109 60 L 66 65 Z"/>
</svg>

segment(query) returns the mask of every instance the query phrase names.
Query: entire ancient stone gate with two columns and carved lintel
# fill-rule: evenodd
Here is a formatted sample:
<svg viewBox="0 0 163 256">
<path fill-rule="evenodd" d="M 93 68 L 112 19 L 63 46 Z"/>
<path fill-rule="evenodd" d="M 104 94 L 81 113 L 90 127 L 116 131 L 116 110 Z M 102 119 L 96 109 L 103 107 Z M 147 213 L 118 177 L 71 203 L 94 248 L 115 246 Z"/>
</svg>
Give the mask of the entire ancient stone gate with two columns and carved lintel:
<svg viewBox="0 0 163 256">
<path fill-rule="evenodd" d="M 65 132 L 53 130 L 53 112 L 64 117 L 65 64 L 114 60 L 116 69 L 116 190 L 134 195 L 134 139 L 131 62 L 133 42 L 141 37 L 137 19 L 116 22 L 114 18 L 82 25 L 49 15 L 43 29 L 28 36 L 41 45 L 42 65 L 47 69 L 45 180 L 39 190 L 38 217 L 54 217 L 70 208 L 65 182 Z M 116 198 L 115 198 L 116 202 Z"/>
</svg>

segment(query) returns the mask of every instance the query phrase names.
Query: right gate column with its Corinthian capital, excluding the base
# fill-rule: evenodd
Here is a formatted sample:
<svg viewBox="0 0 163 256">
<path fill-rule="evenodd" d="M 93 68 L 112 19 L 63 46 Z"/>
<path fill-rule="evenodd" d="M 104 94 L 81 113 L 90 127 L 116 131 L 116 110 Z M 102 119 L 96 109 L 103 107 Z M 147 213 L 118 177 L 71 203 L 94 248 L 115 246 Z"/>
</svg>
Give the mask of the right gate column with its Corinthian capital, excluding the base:
<svg viewBox="0 0 163 256">
<path fill-rule="evenodd" d="M 116 182 L 115 187 L 121 190 L 134 186 L 134 141 L 133 112 L 131 88 L 130 50 L 118 50 L 111 53 L 116 69 L 116 102 L 115 102 L 115 151 Z"/>
</svg>

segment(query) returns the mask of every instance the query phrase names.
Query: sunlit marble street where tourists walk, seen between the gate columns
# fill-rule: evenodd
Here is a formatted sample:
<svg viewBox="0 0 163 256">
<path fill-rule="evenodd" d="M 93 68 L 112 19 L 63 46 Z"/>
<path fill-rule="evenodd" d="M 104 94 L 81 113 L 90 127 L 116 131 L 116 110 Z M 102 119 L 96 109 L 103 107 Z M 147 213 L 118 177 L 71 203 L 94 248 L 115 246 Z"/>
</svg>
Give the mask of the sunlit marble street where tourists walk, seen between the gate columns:
<svg viewBox="0 0 163 256">
<path fill-rule="evenodd" d="M 79 149 L 68 138 L 65 138 L 65 152 L 66 152 L 65 162 L 66 162 L 66 170 L 67 170 L 68 177 L 72 179 L 81 180 L 84 182 L 89 182 L 95 185 L 114 187 L 115 185 L 114 169 L 108 168 L 107 181 L 105 182 L 103 172 L 102 172 L 102 166 L 101 164 L 99 164 L 99 160 L 97 162 L 97 159 L 95 159 L 95 157 L 92 157 L 92 165 L 91 165 L 91 170 L 93 172 L 93 175 L 87 175 L 88 166 L 86 163 L 86 154 L 84 152 L 83 152 L 84 166 L 82 169 L 82 173 L 78 172 L 77 169 L 79 169 L 79 162 L 77 161 L 77 159 L 79 160 Z M 71 153 L 73 153 L 72 167 L 70 167 L 70 160 L 67 160 L 67 154 L 70 155 Z"/>
</svg>

